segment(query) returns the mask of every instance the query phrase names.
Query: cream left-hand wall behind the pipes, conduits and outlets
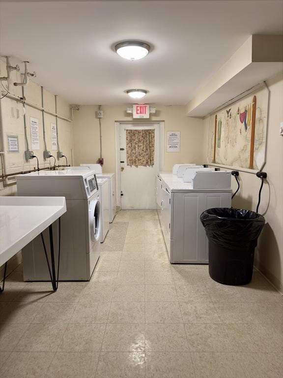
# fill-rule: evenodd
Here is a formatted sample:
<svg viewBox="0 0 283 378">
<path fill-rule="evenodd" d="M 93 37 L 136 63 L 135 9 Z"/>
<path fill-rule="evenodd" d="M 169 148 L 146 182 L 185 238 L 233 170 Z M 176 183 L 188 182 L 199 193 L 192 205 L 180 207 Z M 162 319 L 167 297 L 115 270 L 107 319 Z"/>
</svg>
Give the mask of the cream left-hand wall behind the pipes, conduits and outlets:
<svg viewBox="0 0 283 378">
<path fill-rule="evenodd" d="M 6 76 L 6 63 L 0 61 L 0 76 Z M 23 68 L 23 67 L 22 67 Z M 40 77 L 40 73 L 38 74 Z M 10 84 L 9 91 L 13 95 L 22 96 L 22 87 L 13 86 L 13 82 L 20 82 L 21 77 L 19 72 L 12 72 L 12 80 Z M 7 82 L 2 82 L 5 88 L 7 87 Z M 41 106 L 41 87 L 32 81 L 29 82 L 28 86 L 25 87 L 25 97 L 28 101 Z M 44 107 L 52 112 L 55 112 L 55 95 L 44 90 Z M 3 98 L 1 99 L 1 111 L 2 111 L 2 124 L 4 130 L 4 145 L 6 152 L 6 164 L 7 173 L 13 173 L 21 170 L 33 169 L 37 166 L 36 159 L 29 160 L 25 159 L 25 136 L 24 136 L 24 117 L 23 117 L 23 105 L 14 100 Z M 70 118 L 70 106 L 63 99 L 57 97 L 57 113 L 63 117 Z M 30 117 L 37 118 L 39 121 L 39 133 L 40 133 L 40 150 L 34 150 L 34 155 L 39 159 L 40 167 L 48 167 L 54 164 L 54 159 L 43 159 L 43 128 L 42 128 L 42 112 L 33 109 L 29 106 L 26 107 L 26 122 L 28 130 L 28 142 L 29 149 L 31 150 L 30 142 Z M 45 129 L 46 129 L 46 144 L 47 149 L 52 155 L 56 157 L 57 151 L 52 151 L 51 149 L 51 123 L 56 123 L 56 118 L 49 114 L 45 114 Z M 7 134 L 18 135 L 19 137 L 19 153 L 8 153 L 7 152 Z M 68 162 L 71 163 L 71 150 L 73 149 L 73 126 L 71 122 L 63 121 L 58 119 L 58 139 L 60 150 L 68 158 Z M 58 160 L 57 160 L 58 163 Z M 65 164 L 65 159 L 59 160 L 60 164 Z M 2 162 L 0 163 L 2 164 Z M 0 165 L 2 169 L 2 165 Z M 2 171 L 0 171 L 2 172 Z M 3 188 L 2 183 L 0 183 L 0 195 L 13 195 L 16 193 L 16 185 L 11 187 Z"/>
</svg>

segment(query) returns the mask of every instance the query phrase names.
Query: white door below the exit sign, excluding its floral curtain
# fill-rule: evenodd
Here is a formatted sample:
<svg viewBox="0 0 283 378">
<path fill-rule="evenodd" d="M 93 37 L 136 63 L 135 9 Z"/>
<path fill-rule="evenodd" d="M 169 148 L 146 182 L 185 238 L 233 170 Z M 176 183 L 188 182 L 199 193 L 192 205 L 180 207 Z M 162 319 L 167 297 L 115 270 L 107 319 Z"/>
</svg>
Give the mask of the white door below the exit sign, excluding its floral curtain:
<svg viewBox="0 0 283 378">
<path fill-rule="evenodd" d="M 154 165 L 127 165 L 126 130 L 155 130 Z M 155 210 L 155 177 L 159 170 L 159 124 L 120 124 L 121 209 Z"/>
</svg>

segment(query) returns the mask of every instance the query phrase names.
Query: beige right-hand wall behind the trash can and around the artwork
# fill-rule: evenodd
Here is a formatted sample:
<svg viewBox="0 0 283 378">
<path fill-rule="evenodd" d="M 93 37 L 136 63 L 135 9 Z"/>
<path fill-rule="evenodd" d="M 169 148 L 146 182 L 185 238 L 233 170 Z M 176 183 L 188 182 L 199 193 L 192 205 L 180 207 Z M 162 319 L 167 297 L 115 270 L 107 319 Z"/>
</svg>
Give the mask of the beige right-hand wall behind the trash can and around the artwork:
<svg viewBox="0 0 283 378">
<path fill-rule="evenodd" d="M 283 73 L 267 81 L 270 89 L 269 123 L 267 130 L 267 180 L 263 186 L 259 212 L 266 225 L 259 238 L 255 266 L 283 291 L 283 137 L 279 135 L 283 122 Z M 209 117 L 205 120 L 204 156 L 207 156 Z M 206 160 L 207 161 L 207 160 Z M 236 208 L 254 210 L 258 200 L 260 180 L 255 174 L 240 172 L 241 192 L 232 201 Z M 236 189 L 234 179 L 233 189 Z"/>
</svg>

